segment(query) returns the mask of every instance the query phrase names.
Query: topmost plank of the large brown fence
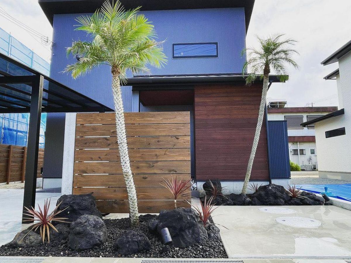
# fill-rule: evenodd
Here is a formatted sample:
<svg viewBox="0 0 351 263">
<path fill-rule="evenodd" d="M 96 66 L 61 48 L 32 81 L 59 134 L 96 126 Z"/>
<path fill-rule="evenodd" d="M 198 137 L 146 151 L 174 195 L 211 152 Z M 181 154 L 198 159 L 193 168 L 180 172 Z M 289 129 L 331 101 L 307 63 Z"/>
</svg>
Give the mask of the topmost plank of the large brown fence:
<svg viewBox="0 0 351 263">
<path fill-rule="evenodd" d="M 125 113 L 125 123 L 190 123 L 190 112 Z M 114 113 L 78 113 L 77 124 L 114 124 Z"/>
</svg>

